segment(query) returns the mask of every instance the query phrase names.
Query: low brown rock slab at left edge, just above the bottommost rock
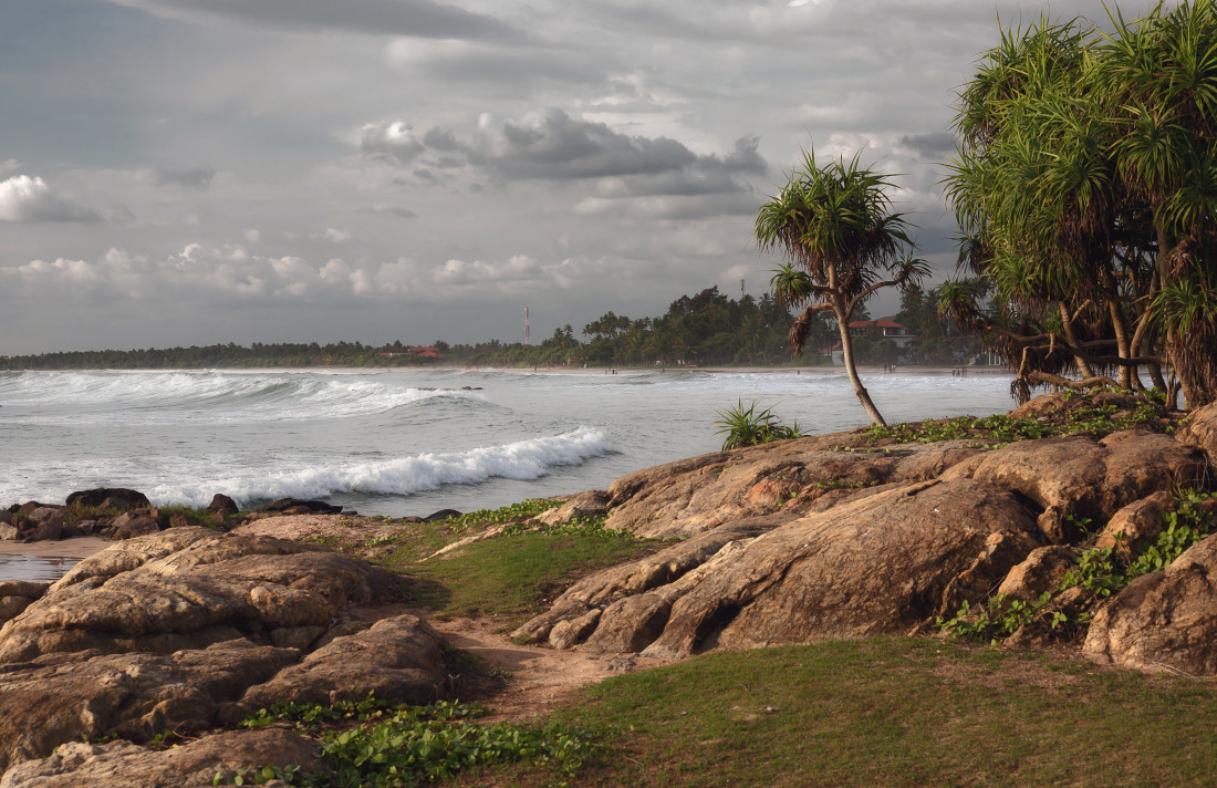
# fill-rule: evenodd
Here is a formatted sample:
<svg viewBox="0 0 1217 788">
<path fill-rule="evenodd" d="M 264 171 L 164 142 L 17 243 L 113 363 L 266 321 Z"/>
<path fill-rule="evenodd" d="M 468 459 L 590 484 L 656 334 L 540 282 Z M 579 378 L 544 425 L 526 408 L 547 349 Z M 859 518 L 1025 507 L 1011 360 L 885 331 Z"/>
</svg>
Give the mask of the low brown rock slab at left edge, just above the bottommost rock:
<svg viewBox="0 0 1217 788">
<path fill-rule="evenodd" d="M 246 641 L 161 654 L 52 654 L 0 667 L 0 769 L 111 731 L 147 741 L 206 728 L 217 705 L 296 661 Z"/>
</svg>

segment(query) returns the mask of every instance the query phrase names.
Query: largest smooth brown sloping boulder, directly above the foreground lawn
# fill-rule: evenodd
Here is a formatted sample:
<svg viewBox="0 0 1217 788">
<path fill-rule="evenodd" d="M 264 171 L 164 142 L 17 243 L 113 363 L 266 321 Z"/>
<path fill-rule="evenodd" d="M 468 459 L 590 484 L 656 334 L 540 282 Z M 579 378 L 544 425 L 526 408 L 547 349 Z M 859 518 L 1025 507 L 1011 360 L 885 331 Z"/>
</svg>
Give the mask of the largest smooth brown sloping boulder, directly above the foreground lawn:
<svg viewBox="0 0 1217 788">
<path fill-rule="evenodd" d="M 1037 536 L 1020 496 L 987 482 L 904 485 L 718 542 L 674 580 L 661 570 L 667 551 L 617 568 L 612 582 L 587 579 L 516 635 L 545 639 L 593 607 L 602 613 L 581 648 L 655 656 L 905 631 L 960 575 L 997 585 Z"/>
</svg>

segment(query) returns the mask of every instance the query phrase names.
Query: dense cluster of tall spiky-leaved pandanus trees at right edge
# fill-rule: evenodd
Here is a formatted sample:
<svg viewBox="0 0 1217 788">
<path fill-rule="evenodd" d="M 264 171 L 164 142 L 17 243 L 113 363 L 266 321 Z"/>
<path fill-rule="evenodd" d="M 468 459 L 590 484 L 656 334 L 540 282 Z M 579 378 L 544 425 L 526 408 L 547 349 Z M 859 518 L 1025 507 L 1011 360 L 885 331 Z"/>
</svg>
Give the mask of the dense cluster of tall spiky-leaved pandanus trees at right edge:
<svg viewBox="0 0 1217 788">
<path fill-rule="evenodd" d="M 968 279 L 940 311 L 1020 401 L 1115 384 L 1194 409 L 1217 399 L 1217 6 L 1109 16 L 1003 29 L 959 93 Z"/>
</svg>

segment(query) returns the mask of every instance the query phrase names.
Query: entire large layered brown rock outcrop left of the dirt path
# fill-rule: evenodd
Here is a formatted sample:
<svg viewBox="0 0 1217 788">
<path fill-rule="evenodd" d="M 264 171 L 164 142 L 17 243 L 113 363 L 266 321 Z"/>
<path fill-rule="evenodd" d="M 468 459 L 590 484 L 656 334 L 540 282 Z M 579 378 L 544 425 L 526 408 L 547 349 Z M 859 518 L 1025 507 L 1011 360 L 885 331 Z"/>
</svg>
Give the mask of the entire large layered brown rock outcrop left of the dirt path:
<svg viewBox="0 0 1217 788">
<path fill-rule="evenodd" d="M 45 593 L 5 589 L 30 602 L 0 628 L 0 769 L 82 737 L 145 742 L 287 700 L 450 693 L 425 622 L 374 625 L 409 581 L 320 546 L 170 529 L 82 560 Z"/>
</svg>

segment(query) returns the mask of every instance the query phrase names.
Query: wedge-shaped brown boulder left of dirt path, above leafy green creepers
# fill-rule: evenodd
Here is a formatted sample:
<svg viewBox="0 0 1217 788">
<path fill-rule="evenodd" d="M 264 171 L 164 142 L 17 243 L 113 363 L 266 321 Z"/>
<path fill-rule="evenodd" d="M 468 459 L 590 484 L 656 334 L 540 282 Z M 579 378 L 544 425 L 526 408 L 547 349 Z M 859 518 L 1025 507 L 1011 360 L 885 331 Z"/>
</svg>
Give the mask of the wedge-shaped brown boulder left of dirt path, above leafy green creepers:
<svg viewBox="0 0 1217 788">
<path fill-rule="evenodd" d="M 434 703 L 452 692 L 441 642 L 416 615 L 382 619 L 252 687 L 241 703 L 251 710 L 275 703 L 332 704 L 361 700 L 369 692 L 389 703 Z"/>
</svg>

